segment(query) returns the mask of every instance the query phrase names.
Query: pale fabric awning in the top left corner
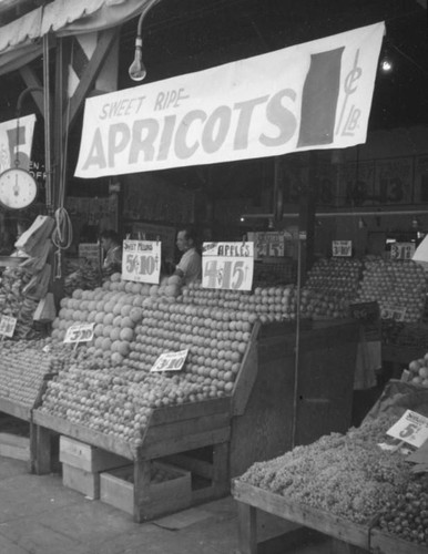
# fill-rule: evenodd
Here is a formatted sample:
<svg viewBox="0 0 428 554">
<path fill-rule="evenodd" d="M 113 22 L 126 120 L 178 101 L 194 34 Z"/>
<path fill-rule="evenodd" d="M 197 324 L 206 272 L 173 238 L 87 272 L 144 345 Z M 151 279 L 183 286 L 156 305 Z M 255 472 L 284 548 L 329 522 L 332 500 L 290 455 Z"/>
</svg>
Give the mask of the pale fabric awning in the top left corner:
<svg viewBox="0 0 428 554">
<path fill-rule="evenodd" d="M 0 74 L 41 54 L 40 39 L 102 31 L 137 17 L 159 0 L 54 0 L 0 28 Z"/>
</svg>

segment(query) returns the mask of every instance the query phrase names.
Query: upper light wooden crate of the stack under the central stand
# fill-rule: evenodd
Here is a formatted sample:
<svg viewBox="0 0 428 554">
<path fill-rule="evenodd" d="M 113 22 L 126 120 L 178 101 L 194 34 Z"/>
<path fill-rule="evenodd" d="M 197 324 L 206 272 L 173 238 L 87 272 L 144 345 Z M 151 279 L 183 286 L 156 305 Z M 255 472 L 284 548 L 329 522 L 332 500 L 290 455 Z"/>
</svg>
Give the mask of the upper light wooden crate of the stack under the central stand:
<svg viewBox="0 0 428 554">
<path fill-rule="evenodd" d="M 108 452 L 92 444 L 71 439 L 70 437 L 60 437 L 60 462 L 79 468 L 89 473 L 121 468 L 129 463 L 126 458 Z"/>
</svg>

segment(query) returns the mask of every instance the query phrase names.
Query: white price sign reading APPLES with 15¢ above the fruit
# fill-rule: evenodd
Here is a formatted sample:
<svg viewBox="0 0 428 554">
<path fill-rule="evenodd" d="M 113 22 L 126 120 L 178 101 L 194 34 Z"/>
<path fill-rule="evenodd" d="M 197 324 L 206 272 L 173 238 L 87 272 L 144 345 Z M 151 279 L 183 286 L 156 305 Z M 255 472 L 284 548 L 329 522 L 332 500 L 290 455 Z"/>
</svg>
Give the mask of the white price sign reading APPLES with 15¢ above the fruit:
<svg viewBox="0 0 428 554">
<path fill-rule="evenodd" d="M 202 287 L 251 290 L 254 273 L 254 243 L 204 243 Z"/>
</svg>

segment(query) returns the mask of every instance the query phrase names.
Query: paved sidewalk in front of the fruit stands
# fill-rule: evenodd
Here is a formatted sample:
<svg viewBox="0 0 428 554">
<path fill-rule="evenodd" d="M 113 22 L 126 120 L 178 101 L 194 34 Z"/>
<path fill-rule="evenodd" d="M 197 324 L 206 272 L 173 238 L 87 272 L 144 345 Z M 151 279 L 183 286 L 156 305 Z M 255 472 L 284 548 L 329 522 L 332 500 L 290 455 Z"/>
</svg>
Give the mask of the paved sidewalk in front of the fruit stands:
<svg viewBox="0 0 428 554">
<path fill-rule="evenodd" d="M 257 520 L 262 540 L 287 525 L 268 514 L 259 513 Z M 330 554 L 322 538 L 308 533 L 302 546 L 272 540 L 258 551 Z M 33 475 L 26 462 L 0 456 L 0 554 L 237 554 L 237 547 L 231 496 L 137 524 L 131 515 L 63 486 L 59 474 Z"/>
</svg>

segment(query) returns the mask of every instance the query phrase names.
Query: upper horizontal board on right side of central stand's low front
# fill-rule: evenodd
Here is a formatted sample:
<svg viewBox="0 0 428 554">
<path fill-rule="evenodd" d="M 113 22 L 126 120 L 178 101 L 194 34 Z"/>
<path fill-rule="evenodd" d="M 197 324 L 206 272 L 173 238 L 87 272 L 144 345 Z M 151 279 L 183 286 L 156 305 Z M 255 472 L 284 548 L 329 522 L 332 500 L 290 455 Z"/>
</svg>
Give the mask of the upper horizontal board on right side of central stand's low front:
<svg viewBox="0 0 428 554">
<path fill-rule="evenodd" d="M 214 416 L 204 416 L 190 420 L 179 420 L 164 425 L 149 425 L 144 435 L 144 444 L 174 440 L 177 437 L 182 437 L 185 440 L 187 434 L 196 434 L 213 429 L 220 429 L 227 427 L 228 423 L 228 413 L 216 413 Z"/>
</svg>

